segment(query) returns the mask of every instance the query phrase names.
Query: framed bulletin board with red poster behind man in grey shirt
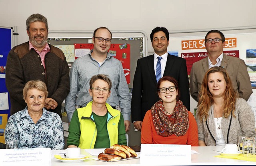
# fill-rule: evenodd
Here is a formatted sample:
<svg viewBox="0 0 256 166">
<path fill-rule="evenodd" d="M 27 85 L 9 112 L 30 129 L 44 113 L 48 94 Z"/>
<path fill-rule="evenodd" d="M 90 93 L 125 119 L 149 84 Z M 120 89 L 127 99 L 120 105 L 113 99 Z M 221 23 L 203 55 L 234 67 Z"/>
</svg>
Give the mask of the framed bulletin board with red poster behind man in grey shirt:
<svg viewBox="0 0 256 166">
<path fill-rule="evenodd" d="M 92 33 L 63 33 L 61 31 L 49 31 L 48 43 L 62 49 L 67 62 L 71 67 L 72 62 L 75 60 L 75 49 L 84 47 L 90 50 L 93 48 L 92 36 L 93 31 Z M 114 55 L 115 53 L 113 51 L 116 51 L 115 58 L 122 62 L 129 88 L 133 87 L 133 78 L 137 66 L 137 60 L 146 55 L 146 47 L 144 45 L 146 40 L 145 35 L 142 33 L 115 34 L 112 31 L 112 41 L 109 52 Z M 123 46 L 126 48 L 121 49 Z"/>
</svg>

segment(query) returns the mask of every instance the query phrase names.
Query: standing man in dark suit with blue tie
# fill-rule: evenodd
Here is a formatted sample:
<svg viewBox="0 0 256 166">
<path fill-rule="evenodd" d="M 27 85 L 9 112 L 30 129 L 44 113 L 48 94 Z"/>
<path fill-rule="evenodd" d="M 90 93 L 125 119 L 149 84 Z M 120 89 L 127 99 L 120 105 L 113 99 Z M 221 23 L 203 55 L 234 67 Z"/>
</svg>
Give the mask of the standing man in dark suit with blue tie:
<svg viewBox="0 0 256 166">
<path fill-rule="evenodd" d="M 157 82 L 163 76 L 172 76 L 178 81 L 180 100 L 190 110 L 186 60 L 167 52 L 169 32 L 165 27 L 153 29 L 150 40 L 155 53 L 138 59 L 133 80 L 132 122 L 139 131 L 146 111 L 160 100 L 157 94 Z"/>
</svg>

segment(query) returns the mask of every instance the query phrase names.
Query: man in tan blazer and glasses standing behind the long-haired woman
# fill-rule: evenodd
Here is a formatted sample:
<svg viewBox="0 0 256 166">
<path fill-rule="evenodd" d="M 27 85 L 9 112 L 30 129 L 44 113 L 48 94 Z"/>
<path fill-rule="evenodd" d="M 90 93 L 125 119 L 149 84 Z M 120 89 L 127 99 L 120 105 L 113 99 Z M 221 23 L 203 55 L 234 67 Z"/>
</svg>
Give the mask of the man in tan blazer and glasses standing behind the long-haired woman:
<svg viewBox="0 0 256 166">
<path fill-rule="evenodd" d="M 247 101 L 252 94 L 252 86 L 244 60 L 223 53 L 225 37 L 218 30 L 209 31 L 204 41 L 208 57 L 194 62 L 190 72 L 190 94 L 192 98 L 198 102 L 198 93 L 207 70 L 213 66 L 222 66 L 228 71 L 234 90 Z"/>
</svg>

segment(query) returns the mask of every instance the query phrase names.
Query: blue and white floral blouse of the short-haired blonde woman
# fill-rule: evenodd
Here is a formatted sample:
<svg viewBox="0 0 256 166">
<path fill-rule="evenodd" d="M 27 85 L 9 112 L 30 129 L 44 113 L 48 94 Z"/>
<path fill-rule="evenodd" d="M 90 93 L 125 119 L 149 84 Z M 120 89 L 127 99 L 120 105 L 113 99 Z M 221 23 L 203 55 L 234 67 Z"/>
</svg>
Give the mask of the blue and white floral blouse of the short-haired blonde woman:
<svg viewBox="0 0 256 166">
<path fill-rule="evenodd" d="M 26 107 L 8 119 L 5 141 L 17 140 L 18 148 L 63 149 L 64 136 L 60 116 L 43 108 L 43 114 L 35 124 Z"/>
</svg>

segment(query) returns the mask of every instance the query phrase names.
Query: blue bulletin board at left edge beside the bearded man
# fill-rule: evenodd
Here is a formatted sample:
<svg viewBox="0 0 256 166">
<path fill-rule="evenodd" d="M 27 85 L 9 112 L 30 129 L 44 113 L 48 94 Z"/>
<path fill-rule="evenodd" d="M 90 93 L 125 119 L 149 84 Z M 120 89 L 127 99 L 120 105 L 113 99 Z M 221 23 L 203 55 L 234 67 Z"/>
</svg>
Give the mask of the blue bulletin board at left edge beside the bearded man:
<svg viewBox="0 0 256 166">
<path fill-rule="evenodd" d="M 5 85 L 7 55 L 12 49 L 12 27 L 0 27 L 0 114 L 10 116 L 10 96 Z"/>
</svg>

